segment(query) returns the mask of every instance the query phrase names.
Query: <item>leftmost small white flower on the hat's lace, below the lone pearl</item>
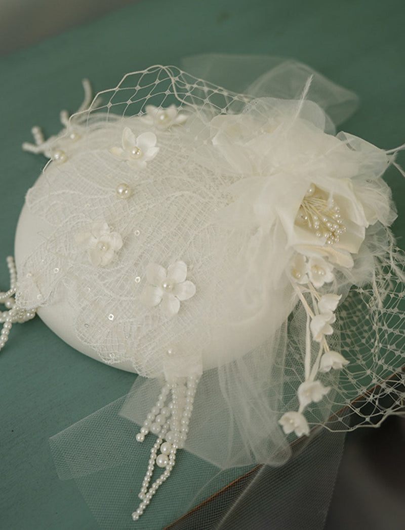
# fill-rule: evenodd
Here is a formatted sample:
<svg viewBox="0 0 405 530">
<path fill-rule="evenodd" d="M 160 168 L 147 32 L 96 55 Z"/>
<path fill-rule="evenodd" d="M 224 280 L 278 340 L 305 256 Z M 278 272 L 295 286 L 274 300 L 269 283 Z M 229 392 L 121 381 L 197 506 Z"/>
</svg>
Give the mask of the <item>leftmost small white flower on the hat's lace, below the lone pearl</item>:
<svg viewBox="0 0 405 530">
<path fill-rule="evenodd" d="M 75 240 L 80 245 L 87 246 L 94 266 L 107 265 L 123 244 L 121 235 L 112 232 L 104 221 L 93 223 L 90 232 L 76 234 Z"/>
</svg>

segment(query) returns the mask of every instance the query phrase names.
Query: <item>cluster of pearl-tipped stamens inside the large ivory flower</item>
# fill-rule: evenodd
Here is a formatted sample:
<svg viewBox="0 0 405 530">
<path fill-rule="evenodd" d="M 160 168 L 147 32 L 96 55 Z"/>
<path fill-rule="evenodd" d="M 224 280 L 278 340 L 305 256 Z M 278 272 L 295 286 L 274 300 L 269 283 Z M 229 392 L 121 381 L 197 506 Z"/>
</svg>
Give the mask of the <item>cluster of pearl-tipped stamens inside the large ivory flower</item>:
<svg viewBox="0 0 405 530">
<path fill-rule="evenodd" d="M 296 223 L 307 226 L 317 237 L 325 237 L 328 245 L 337 243 L 346 231 L 340 208 L 315 184 L 310 184 L 302 199 Z"/>
</svg>

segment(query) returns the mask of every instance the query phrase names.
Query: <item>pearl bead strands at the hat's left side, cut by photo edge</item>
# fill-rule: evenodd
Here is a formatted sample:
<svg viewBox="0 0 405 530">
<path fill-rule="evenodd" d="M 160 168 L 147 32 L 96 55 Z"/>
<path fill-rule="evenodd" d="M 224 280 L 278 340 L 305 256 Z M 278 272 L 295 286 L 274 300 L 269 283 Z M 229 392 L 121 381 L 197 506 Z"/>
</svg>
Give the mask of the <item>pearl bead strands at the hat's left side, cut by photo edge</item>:
<svg viewBox="0 0 405 530">
<path fill-rule="evenodd" d="M 7 258 L 8 272 L 10 273 L 10 289 L 4 293 L 0 291 L 0 304 L 4 304 L 8 311 L 0 311 L 0 323 L 3 323 L 3 328 L 0 333 L 0 350 L 4 347 L 8 340 L 8 334 L 12 328 L 12 325 L 16 322 L 23 323 L 31 320 L 35 316 L 35 310 L 25 310 L 17 307 L 15 299 L 16 287 L 17 287 L 17 271 L 15 268 L 14 258 L 8 256 Z"/>
</svg>

